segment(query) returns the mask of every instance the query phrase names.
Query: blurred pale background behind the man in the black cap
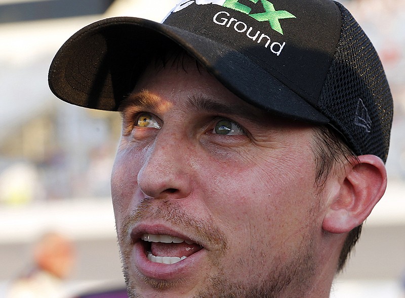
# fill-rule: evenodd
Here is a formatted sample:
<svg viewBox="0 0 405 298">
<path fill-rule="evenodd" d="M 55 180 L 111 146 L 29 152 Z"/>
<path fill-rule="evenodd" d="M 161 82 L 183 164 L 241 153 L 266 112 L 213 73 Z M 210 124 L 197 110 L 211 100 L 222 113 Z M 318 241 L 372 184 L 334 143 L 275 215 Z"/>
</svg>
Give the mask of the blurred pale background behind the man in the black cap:
<svg viewBox="0 0 405 298">
<path fill-rule="evenodd" d="M 70 292 L 123 285 L 109 177 L 117 113 L 71 106 L 51 93 L 63 42 L 111 16 L 163 19 L 178 0 L 0 0 L 0 297 L 32 266 L 39 237 L 74 245 Z M 388 189 L 367 220 L 332 297 L 405 297 L 405 1 L 342 0 L 373 41 L 394 97 Z"/>
</svg>

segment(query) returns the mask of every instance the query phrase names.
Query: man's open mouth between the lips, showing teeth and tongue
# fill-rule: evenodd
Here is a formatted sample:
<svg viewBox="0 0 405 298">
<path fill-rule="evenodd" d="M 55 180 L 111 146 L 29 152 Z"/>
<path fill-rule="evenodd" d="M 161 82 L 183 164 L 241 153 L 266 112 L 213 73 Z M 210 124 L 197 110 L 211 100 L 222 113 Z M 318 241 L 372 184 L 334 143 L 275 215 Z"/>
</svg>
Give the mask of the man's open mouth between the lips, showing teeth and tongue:
<svg viewBox="0 0 405 298">
<path fill-rule="evenodd" d="M 149 261 L 175 264 L 203 249 L 193 241 L 170 235 L 143 234 L 141 237 Z"/>
</svg>

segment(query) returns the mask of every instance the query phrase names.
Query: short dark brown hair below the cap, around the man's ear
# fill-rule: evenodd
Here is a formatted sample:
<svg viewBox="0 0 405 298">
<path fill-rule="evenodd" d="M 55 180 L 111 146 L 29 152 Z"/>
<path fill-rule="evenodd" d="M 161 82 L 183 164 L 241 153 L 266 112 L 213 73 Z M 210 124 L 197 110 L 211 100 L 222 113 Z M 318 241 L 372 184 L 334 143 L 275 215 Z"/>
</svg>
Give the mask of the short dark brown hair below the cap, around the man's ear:
<svg viewBox="0 0 405 298">
<path fill-rule="evenodd" d="M 357 155 L 349 148 L 340 134 L 331 126 L 314 128 L 315 184 L 322 188 L 331 173 L 343 162 L 357 160 Z M 360 237 L 362 224 L 352 229 L 346 237 L 340 252 L 337 272 L 342 271 L 350 253 Z"/>
</svg>

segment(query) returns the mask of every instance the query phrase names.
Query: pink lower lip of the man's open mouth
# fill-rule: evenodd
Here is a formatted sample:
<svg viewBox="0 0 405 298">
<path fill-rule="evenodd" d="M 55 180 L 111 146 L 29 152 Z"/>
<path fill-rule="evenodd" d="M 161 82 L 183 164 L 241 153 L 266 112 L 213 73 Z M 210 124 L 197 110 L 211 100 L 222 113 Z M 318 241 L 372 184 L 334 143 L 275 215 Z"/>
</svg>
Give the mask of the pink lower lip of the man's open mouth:
<svg viewBox="0 0 405 298">
<path fill-rule="evenodd" d="M 148 260 L 142 242 L 138 241 L 134 244 L 134 261 L 136 268 L 145 277 L 160 280 L 175 280 L 195 275 L 198 272 L 196 268 L 201 268 L 200 262 L 203 261 L 205 252 L 206 250 L 202 249 L 186 259 L 171 265 L 154 263 Z"/>
</svg>

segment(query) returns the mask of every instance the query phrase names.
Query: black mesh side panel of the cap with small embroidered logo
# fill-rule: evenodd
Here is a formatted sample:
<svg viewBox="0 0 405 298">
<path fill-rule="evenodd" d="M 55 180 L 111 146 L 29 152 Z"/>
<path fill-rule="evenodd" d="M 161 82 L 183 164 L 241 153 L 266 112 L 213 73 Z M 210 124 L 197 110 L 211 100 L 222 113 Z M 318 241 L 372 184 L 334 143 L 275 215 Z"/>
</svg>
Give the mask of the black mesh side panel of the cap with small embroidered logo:
<svg viewBox="0 0 405 298">
<path fill-rule="evenodd" d="M 339 3 L 342 31 L 320 95 L 319 109 L 357 155 L 386 161 L 392 96 L 380 59 L 365 32 Z"/>
</svg>

